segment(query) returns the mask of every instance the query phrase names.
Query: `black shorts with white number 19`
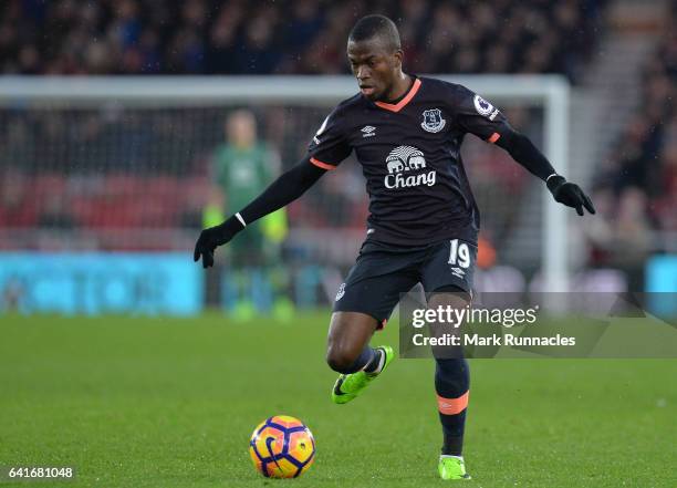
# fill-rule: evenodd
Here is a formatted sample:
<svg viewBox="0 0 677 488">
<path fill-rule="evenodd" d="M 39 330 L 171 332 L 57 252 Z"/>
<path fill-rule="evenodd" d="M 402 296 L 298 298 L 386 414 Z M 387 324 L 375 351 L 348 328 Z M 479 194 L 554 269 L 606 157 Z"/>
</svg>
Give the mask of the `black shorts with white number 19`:
<svg viewBox="0 0 677 488">
<path fill-rule="evenodd" d="M 455 287 L 471 293 L 476 261 L 477 246 L 461 239 L 418 248 L 366 241 L 338 288 L 334 312 L 366 313 L 383 328 L 399 294 L 416 283 L 426 292 Z"/>
</svg>

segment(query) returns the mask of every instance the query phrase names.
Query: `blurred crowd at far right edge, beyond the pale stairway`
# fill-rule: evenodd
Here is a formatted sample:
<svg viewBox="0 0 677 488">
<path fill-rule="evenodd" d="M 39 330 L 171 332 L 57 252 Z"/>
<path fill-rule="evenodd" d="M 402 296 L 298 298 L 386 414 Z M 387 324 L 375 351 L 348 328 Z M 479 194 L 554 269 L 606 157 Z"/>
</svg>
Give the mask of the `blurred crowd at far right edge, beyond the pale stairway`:
<svg viewBox="0 0 677 488">
<path fill-rule="evenodd" d="M 594 264 L 639 267 L 653 251 L 675 250 L 676 23 L 673 1 L 658 48 L 646 62 L 639 110 L 597 172 L 593 199 L 605 218 L 589 222 Z"/>
</svg>

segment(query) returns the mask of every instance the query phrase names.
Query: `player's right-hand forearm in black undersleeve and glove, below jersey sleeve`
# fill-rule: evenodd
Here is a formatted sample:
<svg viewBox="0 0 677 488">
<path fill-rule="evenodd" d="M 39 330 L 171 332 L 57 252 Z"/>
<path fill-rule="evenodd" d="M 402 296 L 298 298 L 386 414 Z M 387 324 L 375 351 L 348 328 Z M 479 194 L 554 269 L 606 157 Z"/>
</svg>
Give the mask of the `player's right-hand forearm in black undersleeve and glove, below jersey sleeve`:
<svg viewBox="0 0 677 488">
<path fill-rule="evenodd" d="M 575 208 L 580 216 L 584 214 L 583 208 L 591 214 L 595 214 L 595 207 L 590 197 L 583 193 L 579 185 L 558 175 L 548 158 L 533 145 L 529 137 L 506 124 L 501 129 L 500 137 L 496 141 L 496 145 L 506 149 L 515 162 L 545 181 L 555 201 Z"/>
</svg>

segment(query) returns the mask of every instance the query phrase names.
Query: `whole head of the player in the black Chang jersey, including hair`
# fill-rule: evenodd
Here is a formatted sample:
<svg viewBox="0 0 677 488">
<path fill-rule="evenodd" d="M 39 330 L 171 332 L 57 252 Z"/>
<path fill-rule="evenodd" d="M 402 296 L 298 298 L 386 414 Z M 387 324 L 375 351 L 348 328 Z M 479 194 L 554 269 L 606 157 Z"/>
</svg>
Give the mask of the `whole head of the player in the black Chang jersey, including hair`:
<svg viewBox="0 0 677 488">
<path fill-rule="evenodd" d="M 363 17 L 348 35 L 348 62 L 362 94 L 369 100 L 388 96 L 402 76 L 403 55 L 399 32 L 387 17 Z"/>
</svg>

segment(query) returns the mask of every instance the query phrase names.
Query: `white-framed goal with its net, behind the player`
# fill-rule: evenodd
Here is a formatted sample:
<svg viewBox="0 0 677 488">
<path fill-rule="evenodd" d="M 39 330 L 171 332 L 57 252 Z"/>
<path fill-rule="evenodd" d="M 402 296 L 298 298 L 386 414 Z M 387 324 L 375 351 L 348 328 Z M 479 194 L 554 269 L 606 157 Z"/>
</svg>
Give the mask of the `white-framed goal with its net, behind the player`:
<svg viewBox="0 0 677 488">
<path fill-rule="evenodd" d="M 500 107 L 566 172 L 563 79 L 439 77 Z M 215 158 L 228 145 L 235 111 L 253 114 L 271 178 L 304 155 L 332 107 L 355 91 L 347 76 L 4 77 L 0 249 L 188 252 L 202 225 L 219 215 L 208 209 L 237 210 L 228 208 L 229 195 L 215 193 Z M 510 267 L 525 280 L 540 276 L 545 289 L 564 290 L 564 212 L 501 149 L 466 141 L 464 160 L 482 217 L 482 267 Z M 366 216 L 364 178 L 352 162 L 292 204 L 277 231 L 273 222 L 262 232 L 278 261 L 341 276 L 365 237 Z"/>
</svg>

